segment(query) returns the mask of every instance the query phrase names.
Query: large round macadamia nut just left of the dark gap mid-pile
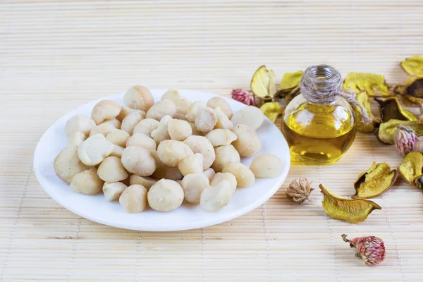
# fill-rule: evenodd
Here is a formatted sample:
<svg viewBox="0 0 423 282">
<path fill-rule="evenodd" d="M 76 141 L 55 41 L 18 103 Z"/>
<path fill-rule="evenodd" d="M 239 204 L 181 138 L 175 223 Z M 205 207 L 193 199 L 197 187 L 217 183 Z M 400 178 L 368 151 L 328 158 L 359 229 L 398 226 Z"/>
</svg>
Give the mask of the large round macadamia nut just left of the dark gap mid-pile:
<svg viewBox="0 0 423 282">
<path fill-rule="evenodd" d="M 122 164 L 137 176 L 151 176 L 156 170 L 156 161 L 148 149 L 129 146 L 123 150 Z"/>
</svg>

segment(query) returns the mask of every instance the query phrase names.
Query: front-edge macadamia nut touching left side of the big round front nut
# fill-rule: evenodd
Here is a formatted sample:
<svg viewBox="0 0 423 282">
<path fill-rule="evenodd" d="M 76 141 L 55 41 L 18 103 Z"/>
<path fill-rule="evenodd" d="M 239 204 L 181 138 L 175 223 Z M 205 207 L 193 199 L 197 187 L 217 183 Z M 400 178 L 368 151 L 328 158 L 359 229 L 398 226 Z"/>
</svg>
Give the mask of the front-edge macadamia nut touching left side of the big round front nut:
<svg viewBox="0 0 423 282">
<path fill-rule="evenodd" d="M 142 212 L 147 207 L 147 189 L 142 185 L 130 185 L 123 190 L 119 202 L 130 214 Z"/>
</svg>

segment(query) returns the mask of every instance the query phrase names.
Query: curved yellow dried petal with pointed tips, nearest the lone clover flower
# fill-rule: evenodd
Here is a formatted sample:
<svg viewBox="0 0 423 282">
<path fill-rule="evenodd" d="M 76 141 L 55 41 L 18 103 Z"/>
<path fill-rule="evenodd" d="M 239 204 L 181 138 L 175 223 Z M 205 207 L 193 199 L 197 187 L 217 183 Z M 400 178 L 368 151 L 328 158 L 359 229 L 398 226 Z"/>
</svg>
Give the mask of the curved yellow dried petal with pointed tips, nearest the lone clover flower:
<svg viewBox="0 0 423 282">
<path fill-rule="evenodd" d="M 345 199 L 333 194 L 331 190 L 323 185 L 319 185 L 319 188 L 324 195 L 322 202 L 324 211 L 333 219 L 357 223 L 366 220 L 374 209 L 382 209 L 378 204 L 370 200 Z"/>
</svg>

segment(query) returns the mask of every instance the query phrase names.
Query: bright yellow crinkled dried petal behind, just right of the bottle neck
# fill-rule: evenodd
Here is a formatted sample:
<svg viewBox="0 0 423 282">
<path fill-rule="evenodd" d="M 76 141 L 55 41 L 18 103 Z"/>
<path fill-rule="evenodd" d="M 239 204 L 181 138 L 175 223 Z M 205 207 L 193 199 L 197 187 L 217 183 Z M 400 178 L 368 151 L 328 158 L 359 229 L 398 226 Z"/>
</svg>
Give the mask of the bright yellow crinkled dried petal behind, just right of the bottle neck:
<svg viewBox="0 0 423 282">
<path fill-rule="evenodd" d="M 384 75 L 374 73 L 348 73 L 343 82 L 343 89 L 351 89 L 355 93 L 366 90 L 371 97 L 391 96 L 388 88 Z"/>
</svg>

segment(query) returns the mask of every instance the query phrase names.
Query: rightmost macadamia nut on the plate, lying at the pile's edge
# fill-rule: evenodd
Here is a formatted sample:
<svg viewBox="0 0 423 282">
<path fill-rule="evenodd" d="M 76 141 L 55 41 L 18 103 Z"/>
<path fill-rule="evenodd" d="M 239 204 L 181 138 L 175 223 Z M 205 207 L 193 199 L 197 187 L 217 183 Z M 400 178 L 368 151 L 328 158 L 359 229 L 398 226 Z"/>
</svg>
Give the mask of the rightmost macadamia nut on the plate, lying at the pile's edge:
<svg viewBox="0 0 423 282">
<path fill-rule="evenodd" d="M 281 173 L 282 161 L 275 154 L 261 154 L 255 157 L 250 169 L 258 178 L 274 178 Z"/>
</svg>

